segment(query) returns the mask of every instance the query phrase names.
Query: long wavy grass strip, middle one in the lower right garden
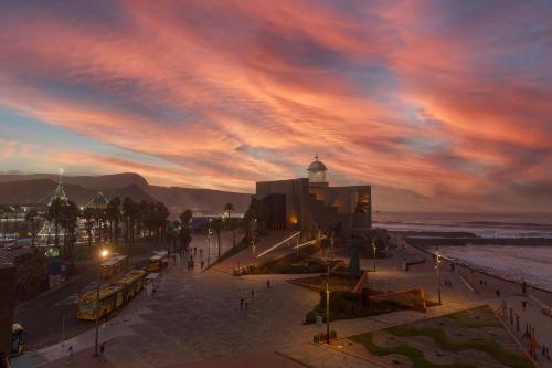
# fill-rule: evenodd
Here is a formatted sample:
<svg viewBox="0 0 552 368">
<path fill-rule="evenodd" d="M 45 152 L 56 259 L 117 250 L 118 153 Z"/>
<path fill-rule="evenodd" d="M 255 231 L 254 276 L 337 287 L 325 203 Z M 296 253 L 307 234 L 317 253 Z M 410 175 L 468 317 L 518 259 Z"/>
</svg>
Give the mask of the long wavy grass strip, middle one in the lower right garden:
<svg viewBox="0 0 552 368">
<path fill-rule="evenodd" d="M 489 354 L 495 360 L 514 368 L 531 368 L 532 362 L 521 354 L 511 353 L 502 348 L 497 341 L 487 338 L 475 338 L 470 340 L 456 340 L 439 328 L 433 327 L 414 327 L 411 325 L 402 325 L 385 329 L 390 334 L 401 337 L 411 336 L 427 336 L 432 337 L 435 345 L 442 349 L 458 353 L 460 350 L 475 349 Z"/>
</svg>

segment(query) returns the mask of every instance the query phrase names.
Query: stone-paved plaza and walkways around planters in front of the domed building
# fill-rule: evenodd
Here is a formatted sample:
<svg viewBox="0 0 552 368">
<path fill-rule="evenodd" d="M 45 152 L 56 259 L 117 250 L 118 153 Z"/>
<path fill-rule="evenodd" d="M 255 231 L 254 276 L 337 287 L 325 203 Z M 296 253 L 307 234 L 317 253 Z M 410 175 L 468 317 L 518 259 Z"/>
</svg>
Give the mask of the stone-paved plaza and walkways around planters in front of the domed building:
<svg viewBox="0 0 552 368">
<path fill-rule="evenodd" d="M 427 297 L 435 299 L 435 274 L 427 270 L 401 271 L 400 262 L 400 254 L 378 260 L 378 271 L 369 276 L 370 285 L 380 290 L 422 286 Z M 371 265 L 371 261 L 363 261 L 364 267 Z M 155 294 L 140 294 L 102 326 L 100 340 L 106 341 L 108 364 L 91 357 L 94 332 L 89 330 L 65 341 L 63 349 L 54 345 L 29 351 L 14 359 L 13 367 L 65 365 L 64 351 L 70 345 L 77 367 L 372 367 L 367 360 L 311 343 L 320 327 L 302 322 L 319 295 L 287 282 L 294 277 L 298 275 L 236 277 L 216 269 L 201 272 L 198 266 L 190 271 L 187 260 L 179 260 L 171 264 Z M 452 281 L 453 287 L 443 287 L 443 305 L 427 313 L 403 311 L 339 320 L 332 323 L 331 329 L 347 337 L 501 302 L 474 293 L 454 272 L 444 272 L 445 278 Z M 240 308 L 241 298 L 246 309 Z"/>
</svg>

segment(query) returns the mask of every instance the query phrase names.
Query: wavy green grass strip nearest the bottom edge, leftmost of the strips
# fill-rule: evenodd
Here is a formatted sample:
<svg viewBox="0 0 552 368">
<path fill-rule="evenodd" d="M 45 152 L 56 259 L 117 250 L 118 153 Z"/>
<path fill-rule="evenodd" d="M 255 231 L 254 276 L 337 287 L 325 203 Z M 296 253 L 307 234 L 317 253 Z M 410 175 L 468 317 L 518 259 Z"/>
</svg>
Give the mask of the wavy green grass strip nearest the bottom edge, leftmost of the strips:
<svg viewBox="0 0 552 368">
<path fill-rule="evenodd" d="M 424 353 L 417 348 L 411 346 L 394 346 L 394 347 L 381 347 L 374 344 L 372 340 L 372 333 L 367 333 L 362 335 L 351 336 L 350 340 L 362 344 L 370 354 L 378 356 L 386 356 L 391 354 L 400 354 L 407 356 L 412 360 L 412 366 L 414 368 L 477 368 L 476 366 L 466 364 L 449 364 L 439 365 L 425 359 Z"/>
</svg>

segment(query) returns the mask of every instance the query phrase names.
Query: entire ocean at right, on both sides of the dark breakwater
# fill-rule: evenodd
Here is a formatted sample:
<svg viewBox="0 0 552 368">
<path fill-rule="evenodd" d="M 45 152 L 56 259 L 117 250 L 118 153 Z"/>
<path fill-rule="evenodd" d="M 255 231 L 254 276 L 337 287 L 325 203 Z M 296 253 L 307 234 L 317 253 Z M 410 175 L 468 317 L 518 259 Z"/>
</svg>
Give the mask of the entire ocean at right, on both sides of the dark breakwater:
<svg viewBox="0 0 552 368">
<path fill-rule="evenodd" d="M 373 227 L 395 231 L 471 232 L 487 245 L 442 246 L 444 256 L 491 275 L 552 292 L 552 213 L 375 212 Z M 551 246 L 498 245 L 491 238 L 546 238 Z"/>
</svg>

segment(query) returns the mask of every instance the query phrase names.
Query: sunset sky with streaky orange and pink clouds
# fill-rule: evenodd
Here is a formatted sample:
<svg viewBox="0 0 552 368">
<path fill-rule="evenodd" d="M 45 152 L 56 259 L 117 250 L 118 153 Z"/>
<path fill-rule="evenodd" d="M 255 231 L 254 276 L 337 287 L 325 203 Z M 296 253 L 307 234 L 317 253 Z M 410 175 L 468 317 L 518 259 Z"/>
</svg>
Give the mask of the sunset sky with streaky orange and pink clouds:
<svg viewBox="0 0 552 368">
<path fill-rule="evenodd" d="M 0 171 L 552 211 L 550 1 L 0 0 Z"/>
</svg>

